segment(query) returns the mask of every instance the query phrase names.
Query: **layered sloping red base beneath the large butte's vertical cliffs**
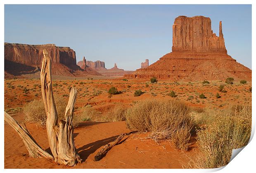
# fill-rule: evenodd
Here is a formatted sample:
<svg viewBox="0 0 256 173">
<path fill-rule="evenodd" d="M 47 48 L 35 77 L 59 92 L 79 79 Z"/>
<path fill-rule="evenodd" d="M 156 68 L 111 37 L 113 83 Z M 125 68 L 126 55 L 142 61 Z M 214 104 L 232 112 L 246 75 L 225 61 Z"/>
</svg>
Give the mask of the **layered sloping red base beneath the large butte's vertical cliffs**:
<svg viewBox="0 0 256 173">
<path fill-rule="evenodd" d="M 251 80 L 251 70 L 226 54 L 171 52 L 148 68 L 138 69 L 133 74 L 125 76 L 137 79 L 156 77 L 176 81 L 224 80 L 227 77 Z"/>
</svg>

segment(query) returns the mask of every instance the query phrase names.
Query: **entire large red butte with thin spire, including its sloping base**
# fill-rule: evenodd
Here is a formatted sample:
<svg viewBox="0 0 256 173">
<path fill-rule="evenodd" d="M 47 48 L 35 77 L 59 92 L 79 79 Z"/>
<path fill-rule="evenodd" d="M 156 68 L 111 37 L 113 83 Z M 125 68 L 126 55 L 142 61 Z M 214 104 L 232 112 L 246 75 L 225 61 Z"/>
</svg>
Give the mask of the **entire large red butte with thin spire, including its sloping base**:
<svg viewBox="0 0 256 173">
<path fill-rule="evenodd" d="M 234 77 L 251 81 L 251 70 L 227 54 L 221 21 L 216 36 L 209 17 L 178 16 L 173 24 L 172 52 L 125 77 L 183 81 Z"/>
</svg>

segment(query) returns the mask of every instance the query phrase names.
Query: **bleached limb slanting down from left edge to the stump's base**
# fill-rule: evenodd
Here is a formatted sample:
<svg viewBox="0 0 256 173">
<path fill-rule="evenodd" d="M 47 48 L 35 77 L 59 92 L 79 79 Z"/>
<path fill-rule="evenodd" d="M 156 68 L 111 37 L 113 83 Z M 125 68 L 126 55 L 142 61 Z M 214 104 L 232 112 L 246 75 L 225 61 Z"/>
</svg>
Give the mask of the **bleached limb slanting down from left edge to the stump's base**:
<svg viewBox="0 0 256 173">
<path fill-rule="evenodd" d="M 30 135 L 26 126 L 20 125 L 15 119 L 5 112 L 5 121 L 17 131 L 22 141 L 24 142 L 29 156 L 34 158 L 50 158 L 53 159 L 52 155 L 43 150 L 37 143 L 36 140 Z"/>
</svg>

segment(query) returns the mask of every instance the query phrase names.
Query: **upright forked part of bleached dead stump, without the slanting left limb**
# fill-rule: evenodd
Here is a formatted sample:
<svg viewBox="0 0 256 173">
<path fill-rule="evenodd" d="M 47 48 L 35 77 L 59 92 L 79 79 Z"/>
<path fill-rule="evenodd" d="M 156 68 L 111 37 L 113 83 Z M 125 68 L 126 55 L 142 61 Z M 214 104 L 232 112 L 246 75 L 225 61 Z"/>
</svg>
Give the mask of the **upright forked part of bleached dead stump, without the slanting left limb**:
<svg viewBox="0 0 256 173">
<path fill-rule="evenodd" d="M 59 164 L 75 166 L 81 163 L 81 159 L 76 152 L 73 140 L 73 109 L 76 103 L 77 91 L 71 88 L 69 102 L 66 106 L 65 120 L 58 122 L 58 115 L 52 93 L 51 60 L 47 50 L 43 50 L 44 58 L 41 68 L 41 89 L 45 111 L 47 115 L 46 129 L 47 136 L 55 161 Z"/>
</svg>

